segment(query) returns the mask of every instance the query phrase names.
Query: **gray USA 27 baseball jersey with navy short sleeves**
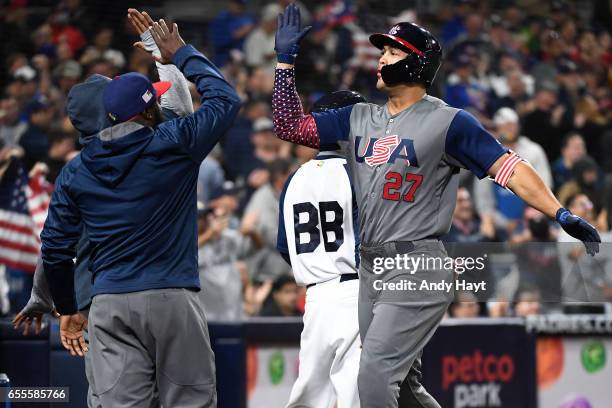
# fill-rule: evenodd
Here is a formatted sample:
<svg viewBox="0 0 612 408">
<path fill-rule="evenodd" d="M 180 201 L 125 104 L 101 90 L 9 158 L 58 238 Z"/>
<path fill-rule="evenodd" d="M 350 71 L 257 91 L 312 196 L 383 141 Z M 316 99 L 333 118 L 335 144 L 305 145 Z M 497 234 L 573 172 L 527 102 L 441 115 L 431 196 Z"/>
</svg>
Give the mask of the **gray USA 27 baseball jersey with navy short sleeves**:
<svg viewBox="0 0 612 408">
<path fill-rule="evenodd" d="M 471 114 L 428 95 L 395 115 L 360 103 L 312 116 L 321 144 L 346 151 L 368 244 L 447 233 L 459 168 L 483 178 L 507 152 Z"/>
</svg>

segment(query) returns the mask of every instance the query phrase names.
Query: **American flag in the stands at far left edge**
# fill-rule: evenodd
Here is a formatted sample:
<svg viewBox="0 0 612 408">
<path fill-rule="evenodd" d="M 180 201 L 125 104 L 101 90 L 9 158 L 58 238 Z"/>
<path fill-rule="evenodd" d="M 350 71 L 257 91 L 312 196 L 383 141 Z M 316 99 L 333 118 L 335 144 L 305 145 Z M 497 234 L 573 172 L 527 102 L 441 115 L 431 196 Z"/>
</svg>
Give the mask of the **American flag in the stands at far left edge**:
<svg viewBox="0 0 612 408">
<path fill-rule="evenodd" d="M 34 272 L 52 186 L 12 160 L 0 179 L 0 264 Z"/>
</svg>

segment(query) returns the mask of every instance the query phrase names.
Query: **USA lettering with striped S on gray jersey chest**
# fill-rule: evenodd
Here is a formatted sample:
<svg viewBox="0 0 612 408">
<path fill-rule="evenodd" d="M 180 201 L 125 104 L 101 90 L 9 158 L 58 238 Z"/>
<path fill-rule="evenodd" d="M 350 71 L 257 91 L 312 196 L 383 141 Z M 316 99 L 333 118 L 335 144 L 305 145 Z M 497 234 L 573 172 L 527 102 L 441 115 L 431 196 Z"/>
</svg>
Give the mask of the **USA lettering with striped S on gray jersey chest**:
<svg viewBox="0 0 612 408">
<path fill-rule="evenodd" d="M 355 160 L 357 163 L 365 163 L 370 166 L 378 166 L 383 163 L 395 163 L 396 160 L 405 160 L 407 166 L 419 167 L 419 162 L 414 151 L 414 143 L 410 139 L 400 139 L 398 135 L 385 136 L 383 138 L 371 137 L 366 141 L 362 150 L 361 136 L 355 137 Z M 360 151 L 364 151 L 360 155 Z"/>
</svg>

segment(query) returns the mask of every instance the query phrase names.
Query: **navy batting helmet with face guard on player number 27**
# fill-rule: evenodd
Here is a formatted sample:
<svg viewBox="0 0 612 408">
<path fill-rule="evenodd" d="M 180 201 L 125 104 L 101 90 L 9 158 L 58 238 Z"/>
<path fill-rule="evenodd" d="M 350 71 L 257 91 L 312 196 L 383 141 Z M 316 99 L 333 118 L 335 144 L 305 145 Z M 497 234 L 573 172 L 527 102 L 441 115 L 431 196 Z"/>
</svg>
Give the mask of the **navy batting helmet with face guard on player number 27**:
<svg viewBox="0 0 612 408">
<path fill-rule="evenodd" d="M 390 45 L 408 53 L 403 60 L 382 68 L 385 84 L 409 82 L 431 86 L 442 62 L 442 47 L 429 31 L 413 23 L 398 23 L 387 34 L 372 34 L 370 42 L 378 49 Z"/>
</svg>

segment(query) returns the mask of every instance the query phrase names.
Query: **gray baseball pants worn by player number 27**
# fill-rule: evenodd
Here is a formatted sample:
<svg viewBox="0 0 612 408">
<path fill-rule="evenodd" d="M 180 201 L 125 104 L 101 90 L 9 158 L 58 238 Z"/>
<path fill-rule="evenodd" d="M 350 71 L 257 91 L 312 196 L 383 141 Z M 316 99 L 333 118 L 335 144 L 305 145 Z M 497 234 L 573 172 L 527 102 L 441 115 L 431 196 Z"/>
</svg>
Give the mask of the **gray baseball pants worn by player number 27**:
<svg viewBox="0 0 612 408">
<path fill-rule="evenodd" d="M 361 408 L 397 408 L 402 387 L 402 406 L 439 408 L 421 385 L 421 353 L 434 334 L 453 299 L 451 290 L 420 290 L 421 282 L 453 282 L 453 272 L 444 269 L 417 270 L 414 274 L 393 268 L 374 273 L 376 258 L 446 257 L 438 240 L 388 242 L 361 246 L 359 288 L 359 332 L 362 342 L 359 366 Z M 407 282 L 413 282 L 408 284 Z M 401 288 L 383 283 L 403 283 Z M 412 285 L 412 289 L 409 289 Z"/>
</svg>

